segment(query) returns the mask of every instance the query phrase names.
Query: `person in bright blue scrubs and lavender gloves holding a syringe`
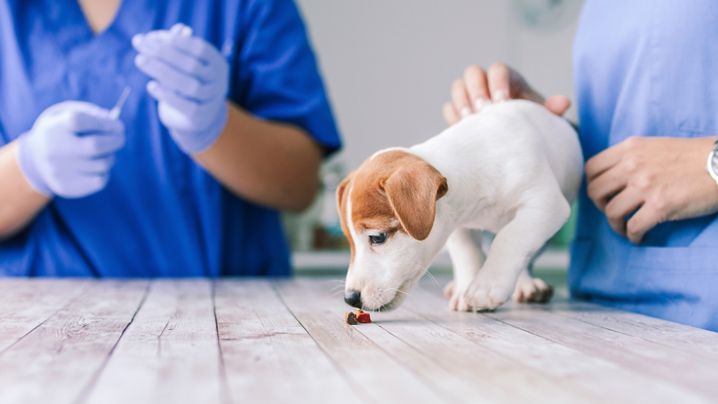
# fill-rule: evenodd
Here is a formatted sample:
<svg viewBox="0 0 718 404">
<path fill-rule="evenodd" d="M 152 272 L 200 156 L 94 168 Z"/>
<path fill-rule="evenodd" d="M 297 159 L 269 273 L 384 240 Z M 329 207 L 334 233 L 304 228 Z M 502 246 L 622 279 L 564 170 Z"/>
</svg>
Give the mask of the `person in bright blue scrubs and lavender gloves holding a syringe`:
<svg viewBox="0 0 718 404">
<path fill-rule="evenodd" d="M 286 276 L 340 138 L 291 0 L 0 0 L 0 146 L 0 276 Z"/>
</svg>

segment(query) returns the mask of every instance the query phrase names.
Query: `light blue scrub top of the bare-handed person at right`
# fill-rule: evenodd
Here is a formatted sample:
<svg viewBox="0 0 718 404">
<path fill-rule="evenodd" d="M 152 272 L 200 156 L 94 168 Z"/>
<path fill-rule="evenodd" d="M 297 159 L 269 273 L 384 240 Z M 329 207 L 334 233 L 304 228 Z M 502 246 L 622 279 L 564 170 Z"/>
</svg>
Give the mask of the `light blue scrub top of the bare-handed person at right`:
<svg viewBox="0 0 718 404">
<path fill-rule="evenodd" d="M 718 137 L 718 1 L 587 0 L 573 65 L 586 159 L 629 136 Z M 718 331 L 717 217 L 663 223 L 636 246 L 584 184 L 573 295 Z"/>
</svg>

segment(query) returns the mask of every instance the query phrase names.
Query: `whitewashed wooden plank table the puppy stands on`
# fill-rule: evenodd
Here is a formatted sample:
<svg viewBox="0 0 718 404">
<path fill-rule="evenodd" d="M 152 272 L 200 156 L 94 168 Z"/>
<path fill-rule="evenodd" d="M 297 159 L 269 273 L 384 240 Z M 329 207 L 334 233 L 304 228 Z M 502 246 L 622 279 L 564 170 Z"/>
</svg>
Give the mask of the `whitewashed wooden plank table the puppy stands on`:
<svg viewBox="0 0 718 404">
<path fill-rule="evenodd" d="M 349 326 L 337 279 L 0 279 L 0 403 L 710 403 L 718 334 L 432 281 Z M 561 301 L 563 300 L 563 301 Z"/>
</svg>

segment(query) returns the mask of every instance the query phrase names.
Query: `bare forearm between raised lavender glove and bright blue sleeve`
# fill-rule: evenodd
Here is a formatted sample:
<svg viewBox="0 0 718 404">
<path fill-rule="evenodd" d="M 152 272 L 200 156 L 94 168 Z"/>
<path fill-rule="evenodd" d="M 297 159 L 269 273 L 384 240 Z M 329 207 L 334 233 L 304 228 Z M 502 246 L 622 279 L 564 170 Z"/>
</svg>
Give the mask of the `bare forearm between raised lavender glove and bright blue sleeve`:
<svg viewBox="0 0 718 404">
<path fill-rule="evenodd" d="M 222 135 L 194 157 L 230 191 L 261 205 L 303 210 L 319 188 L 322 149 L 307 133 L 232 103 Z"/>
</svg>

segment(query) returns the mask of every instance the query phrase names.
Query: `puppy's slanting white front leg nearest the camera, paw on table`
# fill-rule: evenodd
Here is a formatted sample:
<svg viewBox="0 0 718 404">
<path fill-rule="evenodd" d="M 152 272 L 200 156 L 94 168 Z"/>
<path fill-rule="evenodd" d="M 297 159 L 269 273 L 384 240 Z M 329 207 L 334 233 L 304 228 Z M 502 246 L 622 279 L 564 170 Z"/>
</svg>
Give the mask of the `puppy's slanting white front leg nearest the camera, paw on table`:
<svg viewBox="0 0 718 404">
<path fill-rule="evenodd" d="M 493 309 L 508 301 L 521 271 L 571 214 L 560 192 L 529 200 L 496 234 L 486 263 L 466 293 L 472 309 Z"/>
</svg>

